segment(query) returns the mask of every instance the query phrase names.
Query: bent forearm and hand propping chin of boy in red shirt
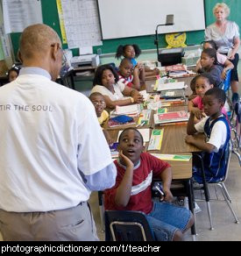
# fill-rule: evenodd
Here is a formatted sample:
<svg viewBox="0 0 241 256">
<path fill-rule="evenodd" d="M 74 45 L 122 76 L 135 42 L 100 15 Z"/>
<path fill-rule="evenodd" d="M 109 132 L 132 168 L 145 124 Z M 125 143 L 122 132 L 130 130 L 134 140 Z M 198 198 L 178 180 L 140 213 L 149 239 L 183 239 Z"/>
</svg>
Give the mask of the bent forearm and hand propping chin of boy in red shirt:
<svg viewBox="0 0 241 256">
<path fill-rule="evenodd" d="M 131 197 L 131 186 L 133 181 L 134 164 L 131 162 L 131 160 L 128 157 L 126 157 L 123 154 L 122 150 L 119 152 L 119 159 L 124 161 L 126 170 L 124 172 L 123 180 L 121 181 L 119 187 L 117 188 L 115 203 L 117 204 L 117 206 L 126 207 Z"/>
</svg>

